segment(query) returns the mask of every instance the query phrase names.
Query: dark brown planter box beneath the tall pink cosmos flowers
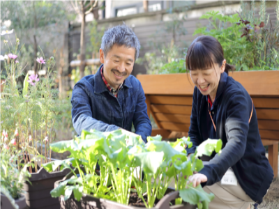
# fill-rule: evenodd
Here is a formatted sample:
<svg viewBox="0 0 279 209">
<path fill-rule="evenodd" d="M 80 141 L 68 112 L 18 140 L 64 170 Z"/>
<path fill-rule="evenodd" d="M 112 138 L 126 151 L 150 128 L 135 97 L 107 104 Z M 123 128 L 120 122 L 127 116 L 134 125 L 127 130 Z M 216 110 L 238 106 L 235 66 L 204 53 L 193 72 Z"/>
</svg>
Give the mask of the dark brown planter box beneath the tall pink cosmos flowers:
<svg viewBox="0 0 279 209">
<path fill-rule="evenodd" d="M 31 184 L 26 182 L 23 187 L 23 190 L 26 192 L 24 196 L 27 206 L 30 209 L 59 209 L 59 199 L 52 198 L 50 191 L 54 188 L 54 183 L 57 180 L 61 180 L 69 172 L 70 169 L 63 169 L 63 171 L 48 173 L 42 167 L 37 173 L 31 173 L 29 178 Z"/>
</svg>

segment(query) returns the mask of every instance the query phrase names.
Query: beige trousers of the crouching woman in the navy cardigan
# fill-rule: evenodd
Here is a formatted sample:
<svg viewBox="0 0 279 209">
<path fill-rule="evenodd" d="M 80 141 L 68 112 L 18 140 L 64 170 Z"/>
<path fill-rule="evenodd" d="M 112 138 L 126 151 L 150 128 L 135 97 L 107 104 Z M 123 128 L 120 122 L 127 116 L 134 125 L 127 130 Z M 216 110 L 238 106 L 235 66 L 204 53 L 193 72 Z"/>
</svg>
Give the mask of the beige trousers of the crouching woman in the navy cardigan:
<svg viewBox="0 0 279 209">
<path fill-rule="evenodd" d="M 221 185 L 220 182 L 211 186 L 205 186 L 204 191 L 215 195 L 213 201 L 209 203 L 209 209 L 246 209 L 250 203 L 255 203 L 250 199 L 239 183 L 237 186 Z"/>
</svg>

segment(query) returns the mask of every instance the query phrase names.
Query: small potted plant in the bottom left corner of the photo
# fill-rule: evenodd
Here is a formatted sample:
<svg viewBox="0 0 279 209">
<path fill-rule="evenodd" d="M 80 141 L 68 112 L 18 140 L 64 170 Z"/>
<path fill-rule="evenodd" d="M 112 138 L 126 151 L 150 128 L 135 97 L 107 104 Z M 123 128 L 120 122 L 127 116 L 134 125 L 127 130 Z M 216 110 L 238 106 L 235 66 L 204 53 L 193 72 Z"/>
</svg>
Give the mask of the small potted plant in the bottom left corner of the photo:
<svg viewBox="0 0 279 209">
<path fill-rule="evenodd" d="M 0 142 L 3 148 L 3 143 Z M 0 208 L 23 209 L 27 206 L 22 195 L 24 181 L 30 175 L 25 165 L 20 171 L 17 169 L 17 155 L 9 156 L 5 150 L 0 153 Z"/>
</svg>

